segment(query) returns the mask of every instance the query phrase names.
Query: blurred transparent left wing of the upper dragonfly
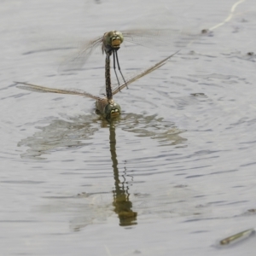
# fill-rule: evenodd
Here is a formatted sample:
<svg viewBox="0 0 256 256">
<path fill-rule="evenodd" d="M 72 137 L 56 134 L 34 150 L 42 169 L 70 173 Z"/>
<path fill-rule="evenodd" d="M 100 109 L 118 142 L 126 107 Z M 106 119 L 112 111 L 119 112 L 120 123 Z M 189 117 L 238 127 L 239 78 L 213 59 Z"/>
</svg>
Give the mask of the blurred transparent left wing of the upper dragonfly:
<svg viewBox="0 0 256 256">
<path fill-rule="evenodd" d="M 79 50 L 68 56 L 60 65 L 59 70 L 67 71 L 79 69 L 84 66 L 84 63 L 89 59 L 90 55 L 102 46 L 102 38 L 95 38 L 90 42 L 86 42 L 79 47 Z"/>
</svg>

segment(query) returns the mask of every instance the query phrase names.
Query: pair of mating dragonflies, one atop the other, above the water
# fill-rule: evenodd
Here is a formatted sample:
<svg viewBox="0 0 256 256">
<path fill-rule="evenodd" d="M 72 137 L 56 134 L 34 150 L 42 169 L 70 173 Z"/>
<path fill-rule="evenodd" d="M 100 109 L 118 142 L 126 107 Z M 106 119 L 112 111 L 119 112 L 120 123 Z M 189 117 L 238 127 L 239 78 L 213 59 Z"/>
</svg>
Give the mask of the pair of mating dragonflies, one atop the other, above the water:
<svg viewBox="0 0 256 256">
<path fill-rule="evenodd" d="M 136 36 L 132 35 L 130 32 L 117 32 L 117 31 L 111 31 L 106 32 L 103 37 L 96 38 L 93 41 L 90 41 L 89 44 L 86 44 L 84 46 L 84 49 L 82 49 L 78 55 L 74 56 L 73 60 L 76 61 L 76 59 L 81 59 L 82 61 L 86 61 L 87 58 L 90 56 L 90 54 L 93 52 L 94 49 L 96 49 L 98 46 L 102 47 L 102 53 L 106 54 L 106 60 L 105 60 L 105 85 L 106 85 L 106 97 L 100 97 L 100 96 L 94 96 L 90 93 L 87 93 L 85 91 L 81 90 L 61 90 L 61 89 L 54 89 L 44 86 L 39 86 L 36 84 L 28 84 L 28 83 L 21 83 L 16 82 L 18 87 L 21 89 L 26 90 L 35 90 L 39 92 L 52 92 L 52 93 L 59 93 L 59 94 L 69 94 L 69 95 L 79 95 L 79 96 L 85 96 L 89 97 L 91 99 L 96 100 L 96 113 L 102 114 L 102 116 L 105 119 L 111 119 L 113 117 L 118 116 L 121 113 L 121 108 L 118 103 L 113 102 L 113 95 L 117 94 L 120 90 L 123 90 L 125 87 L 127 87 L 129 84 L 133 83 L 135 80 L 142 78 L 144 75 L 153 72 L 155 69 L 163 66 L 166 64 L 166 61 L 168 61 L 172 55 L 166 57 L 164 60 L 157 62 L 154 66 L 148 67 L 147 69 L 143 70 L 140 73 L 137 73 L 137 75 L 134 75 L 130 79 L 125 80 L 123 74 L 121 73 L 120 67 L 119 67 L 119 59 L 118 59 L 118 49 L 120 47 L 120 44 L 123 43 L 125 38 L 131 38 L 131 42 L 138 44 L 136 41 Z M 116 88 L 112 88 L 111 86 L 111 79 L 110 79 L 110 57 L 113 55 L 113 70 L 115 73 L 115 76 L 118 81 L 118 86 Z M 119 83 L 118 75 L 116 73 L 115 67 L 116 63 L 119 69 L 119 73 L 121 74 L 121 77 L 123 79 L 123 83 Z"/>
</svg>

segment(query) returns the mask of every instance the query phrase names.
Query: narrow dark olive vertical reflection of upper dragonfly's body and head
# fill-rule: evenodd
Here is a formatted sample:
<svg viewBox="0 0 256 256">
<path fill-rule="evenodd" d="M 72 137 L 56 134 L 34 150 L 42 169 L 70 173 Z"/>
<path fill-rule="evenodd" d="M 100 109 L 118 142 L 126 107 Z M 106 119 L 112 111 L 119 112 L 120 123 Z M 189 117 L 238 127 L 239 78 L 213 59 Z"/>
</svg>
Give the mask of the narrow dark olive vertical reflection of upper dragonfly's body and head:
<svg viewBox="0 0 256 256">
<path fill-rule="evenodd" d="M 115 127 L 114 123 L 110 123 L 109 126 L 109 143 L 110 143 L 110 152 L 111 159 L 113 163 L 113 177 L 114 177 L 114 187 L 113 190 L 113 207 L 114 212 L 119 215 L 119 224 L 120 226 L 127 226 L 131 224 L 137 224 L 137 212 L 131 210 L 132 203 L 129 200 L 129 187 L 125 188 L 125 181 L 122 183 L 119 180 L 119 169 L 118 169 L 118 160 L 115 150 Z"/>
</svg>

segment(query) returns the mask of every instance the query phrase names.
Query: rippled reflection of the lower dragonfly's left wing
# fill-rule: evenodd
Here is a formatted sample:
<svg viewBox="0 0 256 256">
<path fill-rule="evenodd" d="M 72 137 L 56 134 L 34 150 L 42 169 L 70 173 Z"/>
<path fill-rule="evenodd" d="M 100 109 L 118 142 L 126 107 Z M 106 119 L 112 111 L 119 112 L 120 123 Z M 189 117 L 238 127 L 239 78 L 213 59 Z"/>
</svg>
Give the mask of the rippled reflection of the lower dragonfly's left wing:
<svg viewBox="0 0 256 256">
<path fill-rule="evenodd" d="M 81 148 L 91 143 L 87 142 L 97 130 L 99 119 L 96 115 L 83 115 L 75 118 L 54 119 L 47 126 L 37 127 L 41 131 L 35 132 L 32 137 L 22 139 L 18 147 L 26 146 L 26 153 L 21 158 L 44 160 L 42 154 L 65 149 Z M 49 120 L 46 120 L 49 122 Z"/>
</svg>

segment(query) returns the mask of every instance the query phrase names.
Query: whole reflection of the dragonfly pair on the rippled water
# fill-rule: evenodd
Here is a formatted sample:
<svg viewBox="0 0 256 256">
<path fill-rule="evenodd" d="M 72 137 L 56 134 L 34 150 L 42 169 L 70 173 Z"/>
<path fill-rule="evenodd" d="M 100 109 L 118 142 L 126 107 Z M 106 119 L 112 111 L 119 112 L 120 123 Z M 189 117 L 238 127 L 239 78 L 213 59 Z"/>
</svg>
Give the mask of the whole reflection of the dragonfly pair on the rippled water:
<svg viewBox="0 0 256 256">
<path fill-rule="evenodd" d="M 42 160 L 45 159 L 41 156 L 42 154 L 51 154 L 55 150 L 63 151 L 69 148 L 81 148 L 90 145 L 91 143 L 88 141 L 96 131 L 100 130 L 101 127 L 109 127 L 109 145 L 114 177 L 113 212 L 118 214 L 120 226 L 137 224 L 137 212 L 132 210 L 129 183 L 126 180 L 126 174 L 122 176 L 123 181 L 119 177 L 115 125 L 118 125 L 123 131 L 135 133 L 137 137 L 157 139 L 160 145 L 177 145 L 183 143 L 186 139 L 179 136 L 179 133 L 182 131 L 175 128 L 174 124 L 157 118 L 155 115 L 144 116 L 127 113 L 122 114 L 119 119 L 113 119 L 111 123 L 93 114 L 72 118 L 66 116 L 65 119 L 48 120 L 50 122 L 49 125 L 38 127 L 41 131 L 37 131 L 32 137 L 21 140 L 18 146 L 28 147 L 26 153 L 21 154 L 21 157 Z M 137 140 L 139 141 L 139 138 Z M 96 194 L 79 194 L 79 197 L 88 198 L 89 201 L 91 199 L 95 200 L 95 196 Z M 89 205 L 91 206 L 93 203 Z M 84 226 L 91 223 L 91 218 L 98 218 L 98 215 L 101 214 L 101 211 L 99 212 L 97 208 L 97 212 L 90 215 L 87 208 L 88 204 L 85 203 L 84 207 L 86 210 L 83 210 L 83 214 L 86 212 L 86 216 L 76 218 L 73 221 L 73 230 L 81 230 Z M 104 208 L 102 203 L 100 204 L 100 208 Z M 105 210 L 104 214 L 106 214 Z"/>
</svg>

